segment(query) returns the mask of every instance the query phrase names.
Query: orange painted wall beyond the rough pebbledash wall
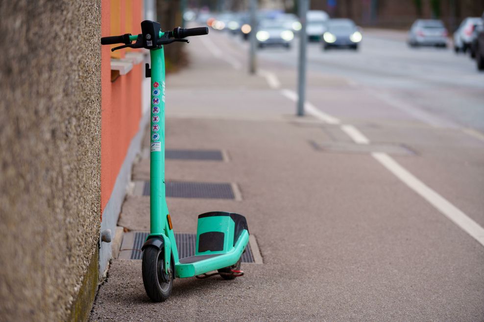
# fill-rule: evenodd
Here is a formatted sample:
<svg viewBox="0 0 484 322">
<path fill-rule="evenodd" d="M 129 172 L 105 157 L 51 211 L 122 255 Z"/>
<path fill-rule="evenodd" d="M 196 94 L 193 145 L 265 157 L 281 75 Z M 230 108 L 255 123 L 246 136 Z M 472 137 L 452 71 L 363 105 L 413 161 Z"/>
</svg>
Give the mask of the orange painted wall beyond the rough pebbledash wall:
<svg viewBox="0 0 484 322">
<path fill-rule="evenodd" d="M 101 36 L 111 34 L 111 5 L 119 5 L 120 34 L 141 33 L 143 0 L 101 0 Z M 131 15 L 131 19 L 126 19 Z M 131 21 L 131 30 L 126 30 L 126 21 Z M 116 23 L 116 24 L 117 24 Z M 124 51 L 120 50 L 121 58 Z M 141 119 L 142 64 L 133 66 L 126 75 L 111 82 L 111 48 L 101 46 L 101 213 L 104 211 L 121 165 L 126 157 L 131 140 L 139 130 Z"/>
</svg>

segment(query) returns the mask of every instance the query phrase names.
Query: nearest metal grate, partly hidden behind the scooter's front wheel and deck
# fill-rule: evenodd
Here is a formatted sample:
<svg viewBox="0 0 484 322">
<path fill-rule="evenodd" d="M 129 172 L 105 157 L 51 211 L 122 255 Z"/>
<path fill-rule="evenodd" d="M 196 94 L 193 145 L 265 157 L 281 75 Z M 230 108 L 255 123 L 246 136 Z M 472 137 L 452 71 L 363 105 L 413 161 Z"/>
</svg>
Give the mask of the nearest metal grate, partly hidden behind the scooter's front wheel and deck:
<svg viewBox="0 0 484 322">
<path fill-rule="evenodd" d="M 143 253 L 141 252 L 141 246 L 145 243 L 146 237 L 149 235 L 147 232 L 136 232 L 134 236 L 133 249 L 131 250 L 130 259 L 141 259 Z M 175 234 L 176 247 L 178 248 L 178 257 L 186 258 L 195 255 L 195 243 L 196 234 Z M 254 257 L 252 256 L 252 250 L 250 244 L 247 244 L 245 253 L 242 254 L 242 262 L 253 263 Z"/>
</svg>

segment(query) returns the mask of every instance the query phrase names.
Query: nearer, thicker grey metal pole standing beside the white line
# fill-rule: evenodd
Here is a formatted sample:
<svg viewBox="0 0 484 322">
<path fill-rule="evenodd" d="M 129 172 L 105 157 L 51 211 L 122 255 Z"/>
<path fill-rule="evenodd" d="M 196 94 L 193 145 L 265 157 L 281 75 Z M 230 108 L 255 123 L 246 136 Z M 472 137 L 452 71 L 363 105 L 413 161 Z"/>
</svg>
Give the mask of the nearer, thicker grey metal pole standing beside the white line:
<svg viewBox="0 0 484 322">
<path fill-rule="evenodd" d="M 306 101 L 306 46 L 308 35 L 306 33 L 306 15 L 310 0 L 299 0 L 299 20 L 301 20 L 301 32 L 299 33 L 299 70 L 298 70 L 298 94 L 297 116 L 304 115 L 304 102 Z"/>
</svg>

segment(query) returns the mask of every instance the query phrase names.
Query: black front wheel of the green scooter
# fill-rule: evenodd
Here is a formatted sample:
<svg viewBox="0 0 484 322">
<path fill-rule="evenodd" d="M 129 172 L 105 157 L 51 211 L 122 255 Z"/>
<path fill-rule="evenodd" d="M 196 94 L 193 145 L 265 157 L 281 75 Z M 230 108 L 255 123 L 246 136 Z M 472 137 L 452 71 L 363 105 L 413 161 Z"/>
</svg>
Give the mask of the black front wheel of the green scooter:
<svg viewBox="0 0 484 322">
<path fill-rule="evenodd" d="M 164 261 L 163 250 L 159 250 L 156 247 L 146 247 L 143 251 L 143 284 L 145 285 L 146 294 L 153 302 L 166 301 L 173 287 L 173 275 L 175 272 L 173 260 L 171 260 L 168 276 L 164 273 Z M 168 282 L 164 279 L 168 279 Z"/>
</svg>

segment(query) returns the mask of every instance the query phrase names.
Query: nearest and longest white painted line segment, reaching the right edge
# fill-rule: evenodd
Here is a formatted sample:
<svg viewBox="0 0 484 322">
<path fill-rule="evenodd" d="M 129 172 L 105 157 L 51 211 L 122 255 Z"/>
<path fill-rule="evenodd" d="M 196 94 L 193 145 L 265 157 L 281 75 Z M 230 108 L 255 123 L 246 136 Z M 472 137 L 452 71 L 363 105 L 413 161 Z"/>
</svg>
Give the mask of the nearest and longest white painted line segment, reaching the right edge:
<svg viewBox="0 0 484 322">
<path fill-rule="evenodd" d="M 399 165 L 387 153 L 373 152 L 371 155 L 385 168 L 387 168 L 388 171 L 393 173 L 397 178 L 409 186 L 414 192 L 418 193 L 439 212 L 452 220 L 463 231 L 474 237 L 474 239 L 484 246 L 484 228 L 479 226 L 478 223 L 460 211 L 459 208 L 451 204 L 440 194 L 426 186 L 422 181 L 418 180 L 413 174 Z"/>
</svg>

